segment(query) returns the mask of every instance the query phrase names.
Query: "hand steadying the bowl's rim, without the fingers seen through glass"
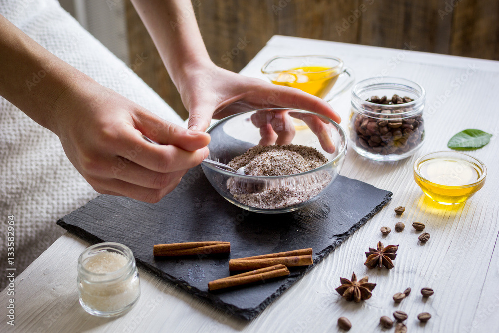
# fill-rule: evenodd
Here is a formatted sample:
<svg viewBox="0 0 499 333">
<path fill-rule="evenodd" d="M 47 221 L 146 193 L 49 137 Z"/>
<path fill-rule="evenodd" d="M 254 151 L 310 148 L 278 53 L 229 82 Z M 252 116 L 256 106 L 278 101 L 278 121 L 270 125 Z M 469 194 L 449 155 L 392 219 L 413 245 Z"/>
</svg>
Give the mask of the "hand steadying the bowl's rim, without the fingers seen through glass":
<svg viewBox="0 0 499 333">
<path fill-rule="evenodd" d="M 341 118 L 324 100 L 291 87 L 245 77 L 215 66 L 195 64 L 178 85 L 189 111 L 188 128 L 205 130 L 211 118 L 269 107 L 295 108 L 322 114 L 339 123 Z"/>
</svg>

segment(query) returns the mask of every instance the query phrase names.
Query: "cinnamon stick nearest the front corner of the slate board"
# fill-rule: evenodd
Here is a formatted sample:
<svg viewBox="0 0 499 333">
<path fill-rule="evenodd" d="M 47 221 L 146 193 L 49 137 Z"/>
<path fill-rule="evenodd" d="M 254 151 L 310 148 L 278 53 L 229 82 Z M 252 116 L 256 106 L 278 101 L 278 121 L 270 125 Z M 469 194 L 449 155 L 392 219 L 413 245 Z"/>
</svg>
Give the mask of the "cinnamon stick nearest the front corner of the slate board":
<svg viewBox="0 0 499 333">
<path fill-rule="evenodd" d="M 241 273 L 230 277 L 210 281 L 208 283 L 208 290 L 217 290 L 222 288 L 240 286 L 285 275 L 289 275 L 289 270 L 286 266 L 274 265 L 251 272 Z"/>
</svg>

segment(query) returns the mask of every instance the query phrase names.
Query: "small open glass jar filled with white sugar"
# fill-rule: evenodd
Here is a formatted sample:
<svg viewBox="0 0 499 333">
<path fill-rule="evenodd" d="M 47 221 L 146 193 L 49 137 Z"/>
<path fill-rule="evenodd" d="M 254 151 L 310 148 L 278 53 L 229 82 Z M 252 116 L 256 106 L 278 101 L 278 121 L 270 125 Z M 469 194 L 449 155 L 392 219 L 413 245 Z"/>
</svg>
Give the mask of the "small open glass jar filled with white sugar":
<svg viewBox="0 0 499 333">
<path fill-rule="evenodd" d="M 111 317 L 130 309 L 140 296 L 132 250 L 113 242 L 86 248 L 78 258 L 78 296 L 92 315 Z"/>
</svg>

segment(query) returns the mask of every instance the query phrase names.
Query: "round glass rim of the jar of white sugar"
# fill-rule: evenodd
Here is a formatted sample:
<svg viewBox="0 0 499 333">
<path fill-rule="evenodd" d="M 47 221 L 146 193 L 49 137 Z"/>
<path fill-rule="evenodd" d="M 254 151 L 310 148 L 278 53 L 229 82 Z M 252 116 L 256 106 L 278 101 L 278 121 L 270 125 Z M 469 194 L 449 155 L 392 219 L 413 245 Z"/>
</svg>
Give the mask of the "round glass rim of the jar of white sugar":
<svg viewBox="0 0 499 333">
<path fill-rule="evenodd" d="M 123 265 L 123 267 L 120 267 L 116 271 L 107 272 L 107 273 L 95 273 L 85 268 L 85 266 L 83 265 L 83 256 L 85 254 L 89 254 L 91 251 L 95 251 L 97 249 L 100 250 L 98 252 L 106 251 L 109 248 L 118 250 L 123 253 L 125 258 L 127 259 L 127 262 L 125 263 L 125 265 Z M 130 250 L 129 247 L 116 242 L 103 242 L 91 245 L 87 247 L 85 250 L 83 250 L 83 252 L 78 257 L 78 272 L 84 274 L 85 276 L 93 276 L 93 277 L 109 276 L 109 279 L 99 280 L 99 282 L 110 282 L 116 279 L 121 279 L 125 273 L 129 272 L 133 273 L 133 268 L 135 266 L 134 263 L 135 263 L 135 258 L 133 257 L 132 250 Z"/>
</svg>

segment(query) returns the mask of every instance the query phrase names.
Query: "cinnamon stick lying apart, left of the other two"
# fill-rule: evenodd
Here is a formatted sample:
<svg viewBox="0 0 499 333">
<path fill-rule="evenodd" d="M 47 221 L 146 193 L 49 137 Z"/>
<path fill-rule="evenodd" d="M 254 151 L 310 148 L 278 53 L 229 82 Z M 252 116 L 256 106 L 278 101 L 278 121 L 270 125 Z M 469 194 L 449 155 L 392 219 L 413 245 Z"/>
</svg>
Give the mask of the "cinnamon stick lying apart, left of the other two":
<svg viewBox="0 0 499 333">
<path fill-rule="evenodd" d="M 153 246 L 155 256 L 192 256 L 229 252 L 231 252 L 230 242 L 186 242 Z"/>
</svg>

